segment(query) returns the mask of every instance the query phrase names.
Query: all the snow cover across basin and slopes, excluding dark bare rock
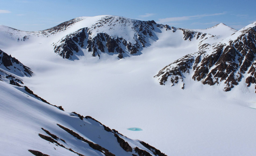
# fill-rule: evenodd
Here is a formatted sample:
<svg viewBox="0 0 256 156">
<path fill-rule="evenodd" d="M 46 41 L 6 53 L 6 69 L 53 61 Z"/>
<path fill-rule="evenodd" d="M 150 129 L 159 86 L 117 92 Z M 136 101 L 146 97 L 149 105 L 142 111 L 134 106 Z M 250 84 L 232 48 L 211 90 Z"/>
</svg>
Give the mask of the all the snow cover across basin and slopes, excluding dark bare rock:
<svg viewBox="0 0 256 156">
<path fill-rule="evenodd" d="M 197 52 L 203 43 L 212 45 L 236 30 L 224 24 L 205 30 L 190 30 L 206 33 L 207 39 L 194 37 L 189 41 L 184 40 L 184 31 L 180 29 L 173 32 L 173 29 L 167 31 L 154 26 L 155 35 L 140 49 L 141 54 L 133 56 L 124 50 L 127 57 L 123 59 L 116 57 L 117 53 L 109 52 L 100 53 L 100 58 L 92 57 L 87 48 L 79 49 L 79 55 L 74 53 L 78 58 L 75 60 L 63 59 L 54 52 L 53 45 L 61 38 L 81 28 L 91 28 L 105 17 L 80 17 L 66 30 L 47 35 L 40 31 L 25 32 L 0 26 L 0 49 L 32 69 L 32 77 L 17 77 L 52 105 L 63 106 L 67 112 L 89 115 L 124 136 L 144 141 L 168 156 L 255 155 L 256 109 L 252 108 L 256 108 L 256 96 L 246 87 L 245 81 L 240 82 L 244 85 L 224 92 L 218 85 L 203 85 L 192 80 L 192 75 L 184 75 L 187 78 L 184 79 L 184 89 L 180 89 L 182 86 L 179 84 L 173 87 L 159 85 L 154 78 L 171 62 Z M 109 30 L 109 26 L 103 24 L 94 29 L 92 35 L 104 32 L 135 42 L 136 32 L 130 30 L 132 23 L 118 24 L 112 27 L 115 30 Z M 28 39 L 21 41 L 24 36 Z M 67 136 L 57 123 L 74 128 L 84 137 L 93 136 L 96 131 L 79 129 L 83 125 L 80 127 L 82 121 L 77 117 L 27 96 L 11 85 L 0 81 L 0 87 L 0 153 L 3 155 L 28 155 L 27 150 L 31 147 L 50 156 L 59 155 L 53 147 L 63 155 L 76 155 L 65 153 L 67 149 L 45 144 L 46 141 L 38 136 L 39 132 L 44 132 L 41 128 L 70 142 L 71 136 Z M 84 122 L 94 124 L 89 119 Z M 143 131 L 127 130 L 131 127 Z M 87 139 L 112 149 L 117 156 L 124 156 L 125 151 L 121 147 L 112 147 L 109 138 L 105 140 L 110 140 L 110 143 L 101 142 L 96 136 Z M 130 142 L 141 146 L 136 140 Z M 132 147 L 135 145 L 131 144 Z M 49 148 L 52 151 L 48 151 Z M 86 156 L 100 155 L 90 150 L 82 153 L 84 147 L 81 144 L 72 143 L 70 148 L 77 148 Z"/>
</svg>

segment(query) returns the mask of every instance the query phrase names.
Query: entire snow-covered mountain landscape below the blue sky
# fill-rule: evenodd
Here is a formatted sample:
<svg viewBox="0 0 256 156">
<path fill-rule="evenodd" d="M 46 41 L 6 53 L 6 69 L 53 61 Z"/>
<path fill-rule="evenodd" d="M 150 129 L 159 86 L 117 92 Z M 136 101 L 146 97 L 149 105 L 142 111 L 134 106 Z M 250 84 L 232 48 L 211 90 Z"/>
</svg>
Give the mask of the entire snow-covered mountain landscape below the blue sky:
<svg viewBox="0 0 256 156">
<path fill-rule="evenodd" d="M 255 155 L 254 32 L 119 16 L 0 26 L 1 154 Z"/>
</svg>

